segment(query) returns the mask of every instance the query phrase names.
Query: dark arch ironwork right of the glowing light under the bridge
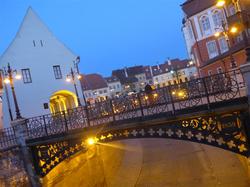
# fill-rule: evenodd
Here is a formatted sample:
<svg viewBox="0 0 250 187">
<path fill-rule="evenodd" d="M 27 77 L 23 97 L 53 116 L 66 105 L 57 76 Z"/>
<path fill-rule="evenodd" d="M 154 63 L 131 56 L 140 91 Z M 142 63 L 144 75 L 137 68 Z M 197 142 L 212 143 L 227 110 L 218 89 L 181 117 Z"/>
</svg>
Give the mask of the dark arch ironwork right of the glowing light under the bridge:
<svg viewBox="0 0 250 187">
<path fill-rule="evenodd" d="M 131 138 L 173 138 L 204 143 L 241 155 L 249 155 L 249 145 L 239 112 L 188 118 L 164 125 L 106 130 L 97 135 L 100 142 Z"/>
</svg>

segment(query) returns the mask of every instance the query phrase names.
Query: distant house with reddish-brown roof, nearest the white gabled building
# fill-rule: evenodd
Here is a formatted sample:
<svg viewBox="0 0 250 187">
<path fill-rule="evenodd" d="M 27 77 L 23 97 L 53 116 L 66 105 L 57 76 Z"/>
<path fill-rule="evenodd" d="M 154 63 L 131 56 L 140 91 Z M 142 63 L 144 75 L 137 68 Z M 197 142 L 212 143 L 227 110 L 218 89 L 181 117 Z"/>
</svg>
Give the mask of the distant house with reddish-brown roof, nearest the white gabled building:
<svg viewBox="0 0 250 187">
<path fill-rule="evenodd" d="M 82 77 L 81 84 L 87 102 L 99 102 L 110 97 L 108 84 L 101 75 L 95 73 Z"/>
</svg>

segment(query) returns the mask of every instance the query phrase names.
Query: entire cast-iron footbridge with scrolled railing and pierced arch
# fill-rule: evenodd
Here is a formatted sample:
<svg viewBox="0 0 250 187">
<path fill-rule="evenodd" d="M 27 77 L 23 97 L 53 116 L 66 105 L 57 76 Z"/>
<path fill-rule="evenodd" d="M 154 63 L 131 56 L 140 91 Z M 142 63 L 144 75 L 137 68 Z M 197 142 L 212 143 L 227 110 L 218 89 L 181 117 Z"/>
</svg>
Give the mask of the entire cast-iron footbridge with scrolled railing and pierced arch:
<svg viewBox="0 0 250 187">
<path fill-rule="evenodd" d="M 249 156 L 246 87 L 239 70 L 108 99 L 25 122 L 26 144 L 38 175 L 98 142 L 172 138 Z M 15 126 L 3 129 L 0 149 L 16 149 Z"/>
</svg>

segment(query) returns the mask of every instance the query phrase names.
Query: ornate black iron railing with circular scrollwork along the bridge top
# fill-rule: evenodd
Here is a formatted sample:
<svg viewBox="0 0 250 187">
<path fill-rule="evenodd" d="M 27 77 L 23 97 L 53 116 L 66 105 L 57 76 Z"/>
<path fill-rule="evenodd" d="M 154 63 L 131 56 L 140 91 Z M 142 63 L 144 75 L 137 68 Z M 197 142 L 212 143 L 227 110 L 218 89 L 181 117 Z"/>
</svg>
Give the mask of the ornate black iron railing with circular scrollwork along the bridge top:
<svg viewBox="0 0 250 187">
<path fill-rule="evenodd" d="M 192 113 L 216 108 L 217 103 L 245 96 L 239 70 L 170 85 L 150 92 L 108 99 L 56 114 L 27 119 L 27 139 L 61 134 L 114 121 L 133 120 L 152 115 Z M 15 144 L 12 128 L 4 129 L 0 149 Z M 6 137 L 6 138 L 4 138 Z M 7 138 L 8 137 L 8 138 Z"/>
</svg>

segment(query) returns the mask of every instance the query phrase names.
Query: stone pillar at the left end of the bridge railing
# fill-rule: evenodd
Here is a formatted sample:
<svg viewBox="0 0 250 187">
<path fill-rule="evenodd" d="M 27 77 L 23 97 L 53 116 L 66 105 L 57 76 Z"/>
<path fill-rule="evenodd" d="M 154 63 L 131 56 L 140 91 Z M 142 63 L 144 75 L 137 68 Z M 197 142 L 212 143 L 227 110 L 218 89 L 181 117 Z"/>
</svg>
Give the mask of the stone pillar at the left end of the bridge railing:
<svg viewBox="0 0 250 187">
<path fill-rule="evenodd" d="M 26 119 L 17 119 L 11 122 L 11 126 L 14 129 L 17 143 L 20 149 L 20 157 L 24 163 L 24 169 L 27 173 L 30 186 L 40 187 L 41 183 L 39 177 L 35 173 L 33 166 L 33 160 L 28 145 L 26 144 L 26 135 L 27 135 L 27 120 Z"/>
</svg>

